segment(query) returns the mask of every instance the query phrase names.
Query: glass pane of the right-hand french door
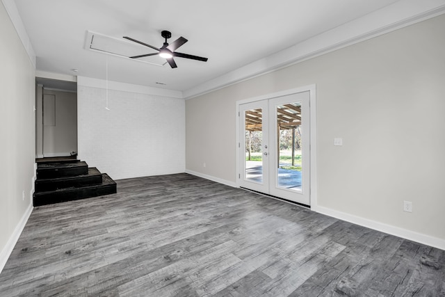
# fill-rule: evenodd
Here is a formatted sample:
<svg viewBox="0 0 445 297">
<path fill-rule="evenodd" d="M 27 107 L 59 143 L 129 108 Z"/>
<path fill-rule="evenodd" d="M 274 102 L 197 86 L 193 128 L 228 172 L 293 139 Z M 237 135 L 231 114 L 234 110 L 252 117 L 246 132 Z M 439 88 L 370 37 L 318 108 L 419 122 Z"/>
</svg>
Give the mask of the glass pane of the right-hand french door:
<svg viewBox="0 0 445 297">
<path fill-rule="evenodd" d="M 301 102 L 277 106 L 277 186 L 301 191 Z"/>
</svg>

